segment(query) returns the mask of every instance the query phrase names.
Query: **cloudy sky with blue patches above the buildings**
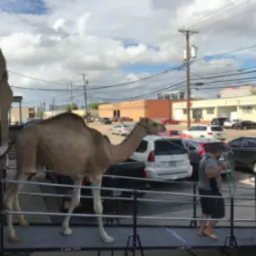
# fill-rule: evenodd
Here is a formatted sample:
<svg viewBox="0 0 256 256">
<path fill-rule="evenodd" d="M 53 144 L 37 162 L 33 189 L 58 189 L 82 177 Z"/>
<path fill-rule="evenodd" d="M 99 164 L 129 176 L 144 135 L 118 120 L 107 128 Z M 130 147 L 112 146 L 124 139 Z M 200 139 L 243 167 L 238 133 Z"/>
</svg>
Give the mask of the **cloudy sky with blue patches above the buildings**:
<svg viewBox="0 0 256 256">
<path fill-rule="evenodd" d="M 84 105 L 82 73 L 89 102 L 132 101 L 185 92 L 178 30 L 190 28 L 191 93 L 216 97 L 237 83 L 205 77 L 256 66 L 255 10 L 254 0 L 0 0 L 0 48 L 23 105 Z"/>
</svg>

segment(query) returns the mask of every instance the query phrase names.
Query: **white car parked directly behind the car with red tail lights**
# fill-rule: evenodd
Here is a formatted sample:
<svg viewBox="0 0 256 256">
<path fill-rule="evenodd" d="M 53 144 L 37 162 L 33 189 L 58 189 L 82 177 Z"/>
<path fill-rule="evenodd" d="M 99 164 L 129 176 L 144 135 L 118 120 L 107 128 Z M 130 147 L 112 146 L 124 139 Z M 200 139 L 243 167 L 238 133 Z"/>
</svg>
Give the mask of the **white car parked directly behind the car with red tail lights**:
<svg viewBox="0 0 256 256">
<path fill-rule="evenodd" d="M 225 140 L 226 134 L 224 128 L 216 125 L 194 125 L 191 126 L 188 130 L 183 131 L 185 134 L 190 135 L 192 138 L 195 137 L 208 137 L 216 138 L 219 140 Z"/>
</svg>

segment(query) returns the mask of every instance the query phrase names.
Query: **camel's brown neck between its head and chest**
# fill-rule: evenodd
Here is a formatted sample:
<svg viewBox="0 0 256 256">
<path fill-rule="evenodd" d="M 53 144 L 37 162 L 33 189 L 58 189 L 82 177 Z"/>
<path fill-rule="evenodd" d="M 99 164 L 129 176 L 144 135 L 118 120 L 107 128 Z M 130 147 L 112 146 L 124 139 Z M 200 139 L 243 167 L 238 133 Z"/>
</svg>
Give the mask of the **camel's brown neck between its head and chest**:
<svg viewBox="0 0 256 256">
<path fill-rule="evenodd" d="M 145 128 L 137 125 L 123 142 L 110 147 L 110 164 L 126 161 L 137 149 L 143 137 L 146 137 Z"/>
</svg>

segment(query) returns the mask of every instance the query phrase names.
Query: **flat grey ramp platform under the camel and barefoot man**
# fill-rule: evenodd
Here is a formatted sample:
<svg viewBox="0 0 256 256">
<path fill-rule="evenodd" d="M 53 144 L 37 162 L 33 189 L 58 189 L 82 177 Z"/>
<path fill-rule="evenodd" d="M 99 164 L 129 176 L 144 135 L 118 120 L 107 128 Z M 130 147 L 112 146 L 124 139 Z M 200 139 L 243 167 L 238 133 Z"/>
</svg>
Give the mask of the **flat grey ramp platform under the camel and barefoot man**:
<svg viewBox="0 0 256 256">
<path fill-rule="evenodd" d="M 97 226 L 73 226 L 72 229 L 73 234 L 65 236 L 61 234 L 60 225 L 16 226 L 16 234 L 22 238 L 22 243 L 13 244 L 8 242 L 4 228 L 4 252 L 123 251 L 128 247 L 128 236 L 133 233 L 132 226 L 106 226 L 115 238 L 114 243 L 106 244 L 100 240 Z M 195 227 L 137 226 L 144 250 L 224 247 L 229 232 L 229 227 L 216 228 L 219 239 L 213 241 L 199 237 Z M 256 227 L 234 227 L 234 235 L 238 247 L 256 246 Z"/>
</svg>

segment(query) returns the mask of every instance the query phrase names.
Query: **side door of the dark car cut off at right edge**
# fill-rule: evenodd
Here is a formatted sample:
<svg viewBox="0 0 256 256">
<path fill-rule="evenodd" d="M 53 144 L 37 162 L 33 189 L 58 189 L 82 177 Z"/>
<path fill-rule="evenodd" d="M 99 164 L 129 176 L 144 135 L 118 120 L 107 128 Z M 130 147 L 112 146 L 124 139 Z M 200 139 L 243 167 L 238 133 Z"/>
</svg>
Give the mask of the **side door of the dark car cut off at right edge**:
<svg viewBox="0 0 256 256">
<path fill-rule="evenodd" d="M 240 152 L 243 165 L 251 168 L 256 160 L 256 137 L 246 137 Z"/>
</svg>

